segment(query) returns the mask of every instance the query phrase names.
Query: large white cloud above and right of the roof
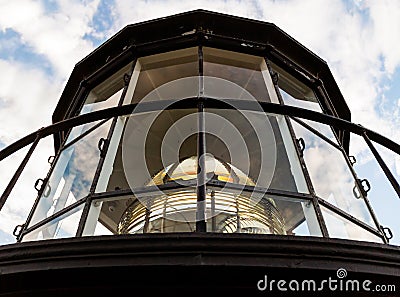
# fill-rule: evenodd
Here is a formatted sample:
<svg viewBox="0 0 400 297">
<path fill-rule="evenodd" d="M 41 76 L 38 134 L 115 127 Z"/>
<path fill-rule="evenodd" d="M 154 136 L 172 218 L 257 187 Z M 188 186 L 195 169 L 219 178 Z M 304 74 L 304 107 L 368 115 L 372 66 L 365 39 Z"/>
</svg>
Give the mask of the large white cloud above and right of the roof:
<svg viewBox="0 0 400 297">
<path fill-rule="evenodd" d="M 400 64 L 400 43 L 395 42 L 395 36 L 400 36 L 395 34 L 400 30 L 399 5 L 396 0 L 356 1 L 353 9 L 339 0 L 116 0 L 114 13 L 118 28 L 198 8 L 275 23 L 328 62 L 355 122 L 387 127 L 381 133 L 393 137 L 390 120 L 380 117 L 375 108 L 383 91 L 380 83 Z"/>
</svg>

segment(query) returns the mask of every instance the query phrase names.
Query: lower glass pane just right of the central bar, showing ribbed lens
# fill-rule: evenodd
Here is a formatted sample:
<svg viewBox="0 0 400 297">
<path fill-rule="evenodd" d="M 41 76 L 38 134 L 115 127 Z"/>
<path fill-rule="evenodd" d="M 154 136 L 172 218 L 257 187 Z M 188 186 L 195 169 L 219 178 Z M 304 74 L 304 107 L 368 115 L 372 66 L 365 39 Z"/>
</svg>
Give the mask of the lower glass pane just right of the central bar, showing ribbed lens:
<svg viewBox="0 0 400 297">
<path fill-rule="evenodd" d="M 207 232 L 322 236 L 311 201 L 260 189 L 207 187 Z"/>
</svg>

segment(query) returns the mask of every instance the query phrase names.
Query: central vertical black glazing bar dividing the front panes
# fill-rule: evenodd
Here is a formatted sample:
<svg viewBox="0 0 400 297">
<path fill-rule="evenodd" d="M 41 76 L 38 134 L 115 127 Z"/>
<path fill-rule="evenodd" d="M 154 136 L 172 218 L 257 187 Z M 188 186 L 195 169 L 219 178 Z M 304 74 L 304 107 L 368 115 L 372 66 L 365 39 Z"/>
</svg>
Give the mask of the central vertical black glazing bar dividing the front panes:
<svg viewBox="0 0 400 297">
<path fill-rule="evenodd" d="M 203 49 L 199 46 L 199 103 L 197 109 L 197 208 L 196 208 L 196 232 L 206 232 L 206 135 L 204 118 L 204 78 L 203 78 Z"/>
</svg>

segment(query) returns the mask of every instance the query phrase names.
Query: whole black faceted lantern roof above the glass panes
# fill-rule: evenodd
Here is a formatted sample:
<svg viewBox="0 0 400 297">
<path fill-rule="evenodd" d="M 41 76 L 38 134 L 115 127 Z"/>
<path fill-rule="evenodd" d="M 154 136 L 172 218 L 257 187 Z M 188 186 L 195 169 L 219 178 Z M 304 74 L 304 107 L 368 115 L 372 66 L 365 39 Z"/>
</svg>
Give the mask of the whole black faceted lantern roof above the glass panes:
<svg viewBox="0 0 400 297">
<path fill-rule="evenodd" d="M 74 100 L 117 67 L 136 57 L 202 44 L 258 56 L 276 64 L 308 83 L 322 86 L 327 112 L 345 120 L 350 110 L 327 63 L 276 25 L 221 13 L 194 10 L 164 18 L 127 25 L 76 64 L 53 113 L 53 122 L 71 116 Z M 344 141 L 346 143 L 346 141 Z"/>
</svg>

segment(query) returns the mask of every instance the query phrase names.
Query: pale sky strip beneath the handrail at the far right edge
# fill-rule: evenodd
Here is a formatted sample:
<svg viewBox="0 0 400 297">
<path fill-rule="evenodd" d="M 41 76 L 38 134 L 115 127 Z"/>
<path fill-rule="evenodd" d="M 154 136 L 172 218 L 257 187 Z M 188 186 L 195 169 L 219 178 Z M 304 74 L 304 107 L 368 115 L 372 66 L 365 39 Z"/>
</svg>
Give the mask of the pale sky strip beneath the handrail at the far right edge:
<svg viewBox="0 0 400 297">
<path fill-rule="evenodd" d="M 374 143 L 377 149 L 379 145 Z M 382 156 L 385 151 L 379 151 Z M 356 163 L 353 165 L 357 175 L 364 179 L 366 178 L 371 189 L 368 192 L 368 200 L 377 216 L 379 223 L 385 227 L 389 227 L 393 233 L 391 244 L 400 244 L 400 220 L 398 210 L 400 209 L 400 200 L 389 180 L 379 166 L 372 152 L 369 150 L 364 138 L 356 135 L 350 135 L 350 155 L 356 157 Z M 388 155 L 390 157 L 390 155 Z M 395 154 L 391 157 L 394 159 Z M 392 162 L 394 160 L 391 160 Z M 386 163 L 389 166 L 393 163 Z M 392 170 L 394 173 L 395 170 Z M 399 179 L 400 180 L 400 179 Z"/>
</svg>

